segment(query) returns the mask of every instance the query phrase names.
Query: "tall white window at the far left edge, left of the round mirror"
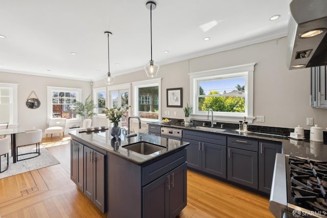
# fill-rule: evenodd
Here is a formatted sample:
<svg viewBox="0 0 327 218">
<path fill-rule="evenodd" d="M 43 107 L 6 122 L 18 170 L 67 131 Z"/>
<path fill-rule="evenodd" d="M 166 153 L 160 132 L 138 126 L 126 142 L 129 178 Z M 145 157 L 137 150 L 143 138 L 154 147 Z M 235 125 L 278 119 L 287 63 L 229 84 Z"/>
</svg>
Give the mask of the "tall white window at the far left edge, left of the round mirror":
<svg viewBox="0 0 327 218">
<path fill-rule="evenodd" d="M 0 83 L 0 123 L 16 124 L 18 84 Z"/>
</svg>

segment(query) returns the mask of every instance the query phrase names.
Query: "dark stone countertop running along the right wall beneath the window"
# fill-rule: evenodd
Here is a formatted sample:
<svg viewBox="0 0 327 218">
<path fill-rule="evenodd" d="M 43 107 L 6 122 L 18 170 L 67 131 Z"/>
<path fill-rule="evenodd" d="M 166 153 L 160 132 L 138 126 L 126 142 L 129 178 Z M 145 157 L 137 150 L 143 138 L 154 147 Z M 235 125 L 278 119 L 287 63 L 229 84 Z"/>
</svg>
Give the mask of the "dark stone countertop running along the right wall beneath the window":
<svg viewBox="0 0 327 218">
<path fill-rule="evenodd" d="M 299 158 L 309 158 L 315 161 L 327 161 L 327 144 L 323 142 L 314 142 L 305 140 L 293 140 L 287 136 L 268 134 L 268 133 L 243 133 L 235 129 L 225 129 L 223 132 L 212 132 L 207 130 L 195 129 L 192 126 L 184 126 L 181 123 L 163 123 L 163 122 L 150 122 L 148 124 L 159 125 L 172 128 L 181 128 L 188 130 L 204 131 L 208 133 L 221 134 L 226 136 L 240 136 L 248 139 L 257 139 L 264 141 L 273 141 L 282 143 L 282 153 L 285 155 L 295 156 Z M 214 128 L 215 129 L 215 128 Z"/>
</svg>

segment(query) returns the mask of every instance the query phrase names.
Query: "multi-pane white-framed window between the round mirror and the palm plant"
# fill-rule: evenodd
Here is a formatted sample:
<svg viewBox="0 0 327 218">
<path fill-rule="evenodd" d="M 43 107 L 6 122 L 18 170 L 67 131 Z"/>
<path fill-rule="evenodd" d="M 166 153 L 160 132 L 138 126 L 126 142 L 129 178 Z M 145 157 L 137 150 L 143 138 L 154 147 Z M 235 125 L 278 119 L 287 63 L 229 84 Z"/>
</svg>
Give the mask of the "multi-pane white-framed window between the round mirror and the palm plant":
<svg viewBox="0 0 327 218">
<path fill-rule="evenodd" d="M 74 119 L 74 105 L 81 101 L 81 89 L 47 86 L 49 118 Z"/>
</svg>

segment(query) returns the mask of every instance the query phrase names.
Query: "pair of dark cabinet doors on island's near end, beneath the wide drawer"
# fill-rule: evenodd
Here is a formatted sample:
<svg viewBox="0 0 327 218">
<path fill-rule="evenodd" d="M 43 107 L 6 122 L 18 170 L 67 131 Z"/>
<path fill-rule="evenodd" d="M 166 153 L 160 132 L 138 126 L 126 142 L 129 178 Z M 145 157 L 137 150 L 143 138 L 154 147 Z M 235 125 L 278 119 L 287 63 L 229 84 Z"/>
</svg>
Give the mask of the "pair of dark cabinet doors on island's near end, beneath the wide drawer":
<svg viewBox="0 0 327 218">
<path fill-rule="evenodd" d="M 186 206 L 186 163 L 143 188 L 143 217 L 176 217 Z"/>
</svg>

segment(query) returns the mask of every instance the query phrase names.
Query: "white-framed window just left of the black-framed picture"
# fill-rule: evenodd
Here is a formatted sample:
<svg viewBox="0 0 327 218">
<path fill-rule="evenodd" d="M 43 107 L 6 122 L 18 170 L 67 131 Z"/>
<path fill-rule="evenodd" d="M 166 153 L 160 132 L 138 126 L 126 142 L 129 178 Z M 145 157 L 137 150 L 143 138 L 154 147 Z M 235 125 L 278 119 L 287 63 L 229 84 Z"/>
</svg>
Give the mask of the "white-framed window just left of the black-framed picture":
<svg viewBox="0 0 327 218">
<path fill-rule="evenodd" d="M 134 115 L 141 119 L 159 119 L 161 79 L 133 83 Z"/>
</svg>

